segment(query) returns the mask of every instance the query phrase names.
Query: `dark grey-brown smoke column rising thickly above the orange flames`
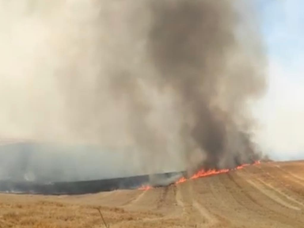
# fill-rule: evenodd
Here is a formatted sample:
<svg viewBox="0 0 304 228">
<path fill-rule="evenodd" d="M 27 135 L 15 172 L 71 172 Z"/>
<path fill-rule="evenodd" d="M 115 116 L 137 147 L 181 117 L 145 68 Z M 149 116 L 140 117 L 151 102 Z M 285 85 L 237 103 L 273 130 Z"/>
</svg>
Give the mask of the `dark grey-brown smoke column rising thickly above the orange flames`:
<svg viewBox="0 0 304 228">
<path fill-rule="evenodd" d="M 259 156 L 250 139 L 246 105 L 264 88 L 263 56 L 258 40 L 237 36 L 238 29 L 250 30 L 238 27 L 237 3 L 232 2 L 152 4 L 147 47 L 157 70 L 154 80 L 178 103 L 186 154 L 199 151 L 208 168 Z"/>
</svg>

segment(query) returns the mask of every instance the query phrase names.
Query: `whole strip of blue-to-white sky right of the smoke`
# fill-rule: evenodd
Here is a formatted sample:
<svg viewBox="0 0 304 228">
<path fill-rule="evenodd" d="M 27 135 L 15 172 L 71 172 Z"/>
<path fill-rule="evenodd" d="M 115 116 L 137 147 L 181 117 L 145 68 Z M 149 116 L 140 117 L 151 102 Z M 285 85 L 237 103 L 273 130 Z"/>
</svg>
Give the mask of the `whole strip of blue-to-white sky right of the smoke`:
<svg viewBox="0 0 304 228">
<path fill-rule="evenodd" d="M 304 159 L 304 1 L 257 2 L 269 60 L 258 140 L 275 159 Z"/>
</svg>

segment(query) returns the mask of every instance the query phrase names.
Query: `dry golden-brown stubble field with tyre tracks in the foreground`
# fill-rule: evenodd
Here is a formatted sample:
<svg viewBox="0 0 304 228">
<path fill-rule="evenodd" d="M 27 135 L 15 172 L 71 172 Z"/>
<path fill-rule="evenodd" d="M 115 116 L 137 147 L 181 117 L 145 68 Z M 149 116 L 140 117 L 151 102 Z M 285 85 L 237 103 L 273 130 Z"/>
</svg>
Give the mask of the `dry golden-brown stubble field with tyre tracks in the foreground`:
<svg viewBox="0 0 304 228">
<path fill-rule="evenodd" d="M 0 195 L 0 227 L 304 227 L 304 161 L 271 162 L 166 188 Z"/>
</svg>

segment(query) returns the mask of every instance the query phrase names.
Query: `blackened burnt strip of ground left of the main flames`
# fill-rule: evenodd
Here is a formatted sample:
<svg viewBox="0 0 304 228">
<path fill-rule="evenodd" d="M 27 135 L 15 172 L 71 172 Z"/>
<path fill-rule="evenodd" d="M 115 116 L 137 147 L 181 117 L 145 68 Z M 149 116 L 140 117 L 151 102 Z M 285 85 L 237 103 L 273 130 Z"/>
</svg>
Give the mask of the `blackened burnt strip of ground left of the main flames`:
<svg viewBox="0 0 304 228">
<path fill-rule="evenodd" d="M 159 180 L 156 181 L 154 185 L 169 185 L 174 183 L 174 180 L 180 176 L 182 176 L 181 172 L 153 174 L 153 177 Z M 148 185 L 150 182 L 150 177 L 151 175 L 138 175 L 91 181 L 62 181 L 50 183 L 0 180 L 0 192 L 44 195 L 79 195 L 112 191 L 117 189 L 136 189 L 143 185 Z M 168 182 L 170 179 L 172 179 L 172 181 Z"/>
</svg>

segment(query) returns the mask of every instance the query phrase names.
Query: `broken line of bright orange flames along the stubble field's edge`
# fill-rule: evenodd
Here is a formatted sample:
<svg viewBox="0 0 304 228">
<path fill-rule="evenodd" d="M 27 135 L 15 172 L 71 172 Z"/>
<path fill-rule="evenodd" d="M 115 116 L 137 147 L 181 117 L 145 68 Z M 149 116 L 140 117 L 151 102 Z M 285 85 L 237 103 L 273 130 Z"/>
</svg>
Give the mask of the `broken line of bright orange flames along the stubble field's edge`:
<svg viewBox="0 0 304 228">
<path fill-rule="evenodd" d="M 244 168 L 245 166 L 248 166 L 248 165 L 256 165 L 256 164 L 260 164 L 260 163 L 261 163 L 260 161 L 255 161 L 253 164 L 242 164 L 242 165 L 239 165 L 239 166 L 237 166 L 236 168 L 233 168 L 233 169 L 219 169 L 219 170 L 216 170 L 216 169 L 204 170 L 204 169 L 202 169 L 202 170 L 199 170 L 197 173 L 193 174 L 189 179 L 196 179 L 196 178 L 206 177 L 206 176 L 215 175 L 215 174 L 228 173 L 231 170 L 238 170 L 238 169 L 242 169 L 242 168 Z M 178 181 L 175 182 L 175 184 L 180 184 L 180 183 L 183 183 L 185 181 L 187 181 L 187 179 L 185 177 L 181 177 Z M 149 190 L 151 188 L 152 188 L 152 186 L 150 186 L 150 185 L 143 185 L 139 189 L 140 190 Z"/>
</svg>

